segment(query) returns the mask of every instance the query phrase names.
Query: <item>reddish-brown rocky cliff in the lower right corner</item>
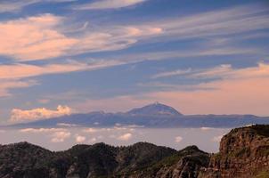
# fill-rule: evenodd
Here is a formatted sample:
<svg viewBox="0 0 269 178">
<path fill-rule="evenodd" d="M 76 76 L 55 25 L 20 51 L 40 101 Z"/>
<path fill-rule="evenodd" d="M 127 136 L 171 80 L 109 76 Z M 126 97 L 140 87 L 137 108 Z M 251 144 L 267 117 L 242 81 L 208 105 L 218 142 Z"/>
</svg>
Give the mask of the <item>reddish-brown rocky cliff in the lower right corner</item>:
<svg viewBox="0 0 269 178">
<path fill-rule="evenodd" d="M 232 129 L 220 142 L 203 177 L 269 177 L 269 125 Z"/>
</svg>

